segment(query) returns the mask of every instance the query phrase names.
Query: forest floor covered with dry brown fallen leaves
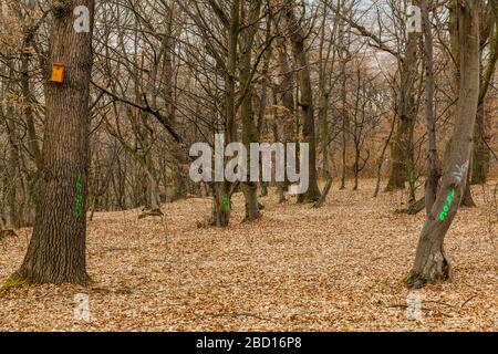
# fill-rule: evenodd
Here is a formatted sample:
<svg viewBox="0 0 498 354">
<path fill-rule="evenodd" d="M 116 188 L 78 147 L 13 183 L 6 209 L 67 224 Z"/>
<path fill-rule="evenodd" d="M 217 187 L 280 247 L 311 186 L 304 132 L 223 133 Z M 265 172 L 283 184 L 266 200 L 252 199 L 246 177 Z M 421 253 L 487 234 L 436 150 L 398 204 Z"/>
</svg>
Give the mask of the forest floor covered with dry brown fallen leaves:
<svg viewBox="0 0 498 354">
<path fill-rule="evenodd" d="M 89 223 L 89 288 L 42 285 L 0 298 L 0 331 L 497 331 L 497 207 L 475 187 L 446 238 L 454 280 L 408 291 L 424 212 L 393 211 L 405 192 L 372 198 L 333 187 L 322 209 L 262 198 L 263 217 L 242 221 L 235 197 L 230 227 L 200 227 L 210 199 L 95 214 Z M 0 282 L 22 261 L 31 229 L 0 244 Z M 74 316 L 90 298 L 90 321 Z M 413 316 L 411 299 L 422 301 Z"/>
</svg>

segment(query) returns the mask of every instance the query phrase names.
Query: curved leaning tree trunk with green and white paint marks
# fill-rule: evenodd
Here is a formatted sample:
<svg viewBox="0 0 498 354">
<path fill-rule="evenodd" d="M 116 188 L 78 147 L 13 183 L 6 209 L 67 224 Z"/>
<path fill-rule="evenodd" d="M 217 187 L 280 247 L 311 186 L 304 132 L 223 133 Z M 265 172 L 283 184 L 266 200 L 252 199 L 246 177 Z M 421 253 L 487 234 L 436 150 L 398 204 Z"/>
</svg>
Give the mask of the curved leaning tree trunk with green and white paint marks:
<svg viewBox="0 0 498 354">
<path fill-rule="evenodd" d="M 422 288 L 425 283 L 450 278 L 450 267 L 443 244 L 467 187 L 479 98 L 479 3 L 461 1 L 457 4 L 457 11 L 460 52 L 457 118 L 448 159 L 445 162 L 442 188 L 422 230 L 414 267 L 405 279 L 409 288 Z"/>
</svg>

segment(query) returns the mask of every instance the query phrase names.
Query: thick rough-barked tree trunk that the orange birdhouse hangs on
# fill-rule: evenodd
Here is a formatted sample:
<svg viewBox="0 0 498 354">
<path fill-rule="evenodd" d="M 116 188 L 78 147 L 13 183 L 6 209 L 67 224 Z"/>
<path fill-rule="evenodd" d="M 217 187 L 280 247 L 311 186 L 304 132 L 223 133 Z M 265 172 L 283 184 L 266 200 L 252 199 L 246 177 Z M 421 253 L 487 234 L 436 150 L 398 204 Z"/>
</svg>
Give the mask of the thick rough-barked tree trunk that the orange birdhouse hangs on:
<svg viewBox="0 0 498 354">
<path fill-rule="evenodd" d="M 86 185 L 89 166 L 89 84 L 92 30 L 77 33 L 73 9 L 85 6 L 93 28 L 93 0 L 58 2 L 51 33 L 51 62 L 65 65 L 61 84 L 46 94 L 43 167 L 37 221 L 19 283 L 74 283 L 90 280 L 85 268 Z"/>
</svg>

